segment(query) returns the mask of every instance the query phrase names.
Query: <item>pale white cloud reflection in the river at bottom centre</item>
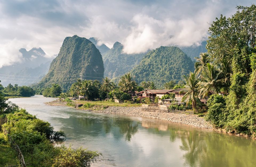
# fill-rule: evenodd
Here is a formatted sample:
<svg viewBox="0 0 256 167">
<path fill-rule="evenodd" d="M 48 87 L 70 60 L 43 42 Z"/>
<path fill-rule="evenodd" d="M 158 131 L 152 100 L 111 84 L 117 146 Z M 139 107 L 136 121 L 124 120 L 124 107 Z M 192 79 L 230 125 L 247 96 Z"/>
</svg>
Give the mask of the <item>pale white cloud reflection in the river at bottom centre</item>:
<svg viewBox="0 0 256 167">
<path fill-rule="evenodd" d="M 128 144 L 136 155 L 134 164 L 137 166 L 181 166 L 184 161 L 179 149 L 181 140 L 170 142 L 168 134 L 159 136 L 141 130 Z"/>
</svg>

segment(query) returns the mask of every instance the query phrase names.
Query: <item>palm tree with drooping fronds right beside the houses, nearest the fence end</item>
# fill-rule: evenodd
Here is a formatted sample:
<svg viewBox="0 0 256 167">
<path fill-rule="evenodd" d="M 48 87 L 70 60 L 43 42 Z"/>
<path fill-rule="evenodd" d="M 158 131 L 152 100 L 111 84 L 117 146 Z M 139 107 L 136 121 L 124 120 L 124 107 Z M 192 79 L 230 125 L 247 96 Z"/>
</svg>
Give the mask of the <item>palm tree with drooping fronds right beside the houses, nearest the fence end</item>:
<svg viewBox="0 0 256 167">
<path fill-rule="evenodd" d="M 198 98 L 198 79 L 197 75 L 193 72 L 190 72 L 187 76 L 183 76 L 186 85 L 186 89 L 181 90 L 179 93 L 185 93 L 181 101 L 186 101 L 186 104 L 192 103 L 192 108 L 197 110 L 197 104 L 201 104 L 200 99 Z"/>
</svg>

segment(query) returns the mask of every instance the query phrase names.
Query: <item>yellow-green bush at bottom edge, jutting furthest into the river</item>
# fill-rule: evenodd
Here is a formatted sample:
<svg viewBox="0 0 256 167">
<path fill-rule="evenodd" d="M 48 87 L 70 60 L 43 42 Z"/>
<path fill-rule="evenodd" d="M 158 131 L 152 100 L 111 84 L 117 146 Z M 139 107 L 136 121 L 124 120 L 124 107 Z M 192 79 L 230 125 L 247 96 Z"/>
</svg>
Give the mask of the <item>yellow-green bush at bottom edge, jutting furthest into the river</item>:
<svg viewBox="0 0 256 167">
<path fill-rule="evenodd" d="M 82 147 L 72 149 L 71 146 L 61 146 L 59 154 L 53 159 L 53 167 L 56 166 L 91 166 L 93 162 L 99 160 L 101 153 L 83 149 Z"/>
</svg>

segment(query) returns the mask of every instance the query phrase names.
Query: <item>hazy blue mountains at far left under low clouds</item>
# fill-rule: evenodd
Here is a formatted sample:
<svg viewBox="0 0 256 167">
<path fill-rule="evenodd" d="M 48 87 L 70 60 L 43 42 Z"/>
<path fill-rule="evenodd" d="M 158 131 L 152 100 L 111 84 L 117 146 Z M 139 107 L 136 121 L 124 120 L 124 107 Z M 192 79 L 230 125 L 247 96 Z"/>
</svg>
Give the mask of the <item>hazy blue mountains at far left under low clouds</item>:
<svg viewBox="0 0 256 167">
<path fill-rule="evenodd" d="M 0 68 L 0 80 L 2 85 L 11 84 L 30 85 L 38 82 L 49 70 L 51 60 L 47 58 L 42 48 L 25 48 L 19 50 L 22 53 L 22 62 Z"/>
</svg>

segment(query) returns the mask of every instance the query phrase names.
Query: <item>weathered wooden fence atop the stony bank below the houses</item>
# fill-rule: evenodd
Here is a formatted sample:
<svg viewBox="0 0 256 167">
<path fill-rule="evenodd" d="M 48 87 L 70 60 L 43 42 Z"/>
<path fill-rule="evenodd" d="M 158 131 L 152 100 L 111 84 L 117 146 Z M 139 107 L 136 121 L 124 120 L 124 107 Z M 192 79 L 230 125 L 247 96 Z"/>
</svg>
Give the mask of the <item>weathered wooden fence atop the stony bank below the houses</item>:
<svg viewBox="0 0 256 167">
<path fill-rule="evenodd" d="M 160 112 L 173 112 L 173 113 L 188 113 L 188 114 L 194 114 L 194 111 L 182 111 L 182 110 L 173 110 L 168 109 L 165 105 L 158 105 L 158 104 L 142 104 L 141 106 L 142 110 L 144 111 L 160 111 Z"/>
</svg>

